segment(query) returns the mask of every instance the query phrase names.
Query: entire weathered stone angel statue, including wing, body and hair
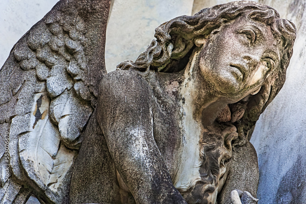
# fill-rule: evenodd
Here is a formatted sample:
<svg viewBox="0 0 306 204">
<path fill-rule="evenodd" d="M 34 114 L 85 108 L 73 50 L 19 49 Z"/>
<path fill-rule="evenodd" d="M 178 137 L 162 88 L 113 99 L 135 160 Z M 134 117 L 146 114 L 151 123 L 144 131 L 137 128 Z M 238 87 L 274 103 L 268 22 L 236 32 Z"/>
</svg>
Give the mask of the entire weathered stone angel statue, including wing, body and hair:
<svg viewBox="0 0 306 204">
<path fill-rule="evenodd" d="M 250 130 L 285 82 L 294 24 L 257 2 L 213 6 L 107 74 L 109 7 L 61 0 L 11 50 L 1 203 L 257 203 Z"/>
</svg>

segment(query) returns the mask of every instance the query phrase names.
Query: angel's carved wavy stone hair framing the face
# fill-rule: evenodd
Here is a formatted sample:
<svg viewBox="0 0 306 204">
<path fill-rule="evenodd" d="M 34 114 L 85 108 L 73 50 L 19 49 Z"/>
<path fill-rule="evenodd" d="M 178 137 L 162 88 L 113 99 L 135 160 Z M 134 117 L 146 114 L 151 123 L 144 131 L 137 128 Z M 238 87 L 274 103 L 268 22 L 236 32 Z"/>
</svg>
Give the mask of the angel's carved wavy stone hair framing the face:
<svg viewBox="0 0 306 204">
<path fill-rule="evenodd" d="M 260 92 L 248 100 L 244 117 L 240 120 L 245 131 L 251 129 L 259 115 L 282 88 L 286 69 L 293 53 L 296 37 L 295 25 L 279 17 L 279 13 L 270 6 L 251 1 L 237 1 L 220 4 L 200 10 L 194 16 L 180 16 L 161 24 L 155 29 L 155 38 L 140 54 L 135 62 L 124 61 L 117 67 L 148 72 L 178 72 L 185 67 L 182 61 L 194 48 L 197 39 L 209 38 L 213 30 L 235 18 L 247 15 L 250 20 L 271 26 L 274 38 L 281 44 L 281 60 L 278 68 L 266 79 Z M 245 104 L 244 104 L 245 105 Z M 231 109 L 235 109 L 231 106 Z"/>
</svg>

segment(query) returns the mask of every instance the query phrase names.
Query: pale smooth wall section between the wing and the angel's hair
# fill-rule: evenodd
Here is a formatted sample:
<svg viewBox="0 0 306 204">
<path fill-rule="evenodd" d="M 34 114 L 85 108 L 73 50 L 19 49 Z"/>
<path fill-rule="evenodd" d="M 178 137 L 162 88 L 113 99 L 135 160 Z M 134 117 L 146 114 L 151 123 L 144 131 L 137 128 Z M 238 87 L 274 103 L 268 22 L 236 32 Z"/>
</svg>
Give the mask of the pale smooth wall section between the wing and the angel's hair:
<svg viewBox="0 0 306 204">
<path fill-rule="evenodd" d="M 193 0 L 114 0 L 106 29 L 108 71 L 135 61 L 154 38 L 155 28 L 177 16 L 191 15 Z"/>
</svg>

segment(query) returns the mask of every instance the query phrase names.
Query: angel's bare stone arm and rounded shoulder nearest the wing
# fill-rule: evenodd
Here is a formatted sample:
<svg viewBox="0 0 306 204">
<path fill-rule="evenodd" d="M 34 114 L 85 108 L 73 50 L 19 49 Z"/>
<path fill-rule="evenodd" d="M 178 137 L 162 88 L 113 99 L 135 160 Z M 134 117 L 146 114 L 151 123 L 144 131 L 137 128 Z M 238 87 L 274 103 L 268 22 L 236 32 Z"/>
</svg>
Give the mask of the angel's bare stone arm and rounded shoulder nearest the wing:
<svg viewBox="0 0 306 204">
<path fill-rule="evenodd" d="M 173 186 L 153 137 L 152 94 L 135 71 L 101 83 L 98 122 L 123 181 L 137 203 L 186 203 Z"/>
</svg>

